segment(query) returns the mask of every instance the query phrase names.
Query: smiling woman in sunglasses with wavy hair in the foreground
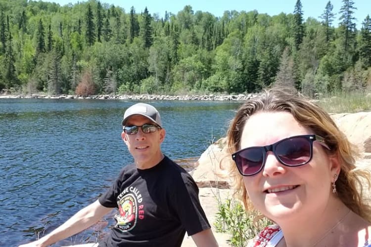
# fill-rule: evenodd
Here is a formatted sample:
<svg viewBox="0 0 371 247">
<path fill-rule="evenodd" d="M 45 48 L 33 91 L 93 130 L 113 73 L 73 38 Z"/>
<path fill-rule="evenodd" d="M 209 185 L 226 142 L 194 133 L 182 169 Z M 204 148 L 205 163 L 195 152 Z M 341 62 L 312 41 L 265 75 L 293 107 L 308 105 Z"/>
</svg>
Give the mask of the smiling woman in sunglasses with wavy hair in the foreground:
<svg viewBox="0 0 371 247">
<path fill-rule="evenodd" d="M 231 175 L 246 210 L 276 225 L 252 246 L 371 247 L 370 172 L 329 115 L 284 89 L 245 102 L 228 131 Z M 370 184 L 369 184 L 370 186 Z"/>
</svg>

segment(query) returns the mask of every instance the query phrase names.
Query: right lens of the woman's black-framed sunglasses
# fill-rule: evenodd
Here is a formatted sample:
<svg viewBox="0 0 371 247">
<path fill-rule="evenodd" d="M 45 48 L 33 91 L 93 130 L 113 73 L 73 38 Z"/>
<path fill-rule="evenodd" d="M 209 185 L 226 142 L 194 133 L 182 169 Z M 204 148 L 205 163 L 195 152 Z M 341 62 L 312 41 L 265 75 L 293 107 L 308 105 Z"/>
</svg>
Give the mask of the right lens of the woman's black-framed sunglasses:
<svg viewBox="0 0 371 247">
<path fill-rule="evenodd" d="M 277 144 L 278 159 L 285 165 L 303 165 L 311 158 L 311 143 L 305 137 L 294 137 Z"/>
</svg>

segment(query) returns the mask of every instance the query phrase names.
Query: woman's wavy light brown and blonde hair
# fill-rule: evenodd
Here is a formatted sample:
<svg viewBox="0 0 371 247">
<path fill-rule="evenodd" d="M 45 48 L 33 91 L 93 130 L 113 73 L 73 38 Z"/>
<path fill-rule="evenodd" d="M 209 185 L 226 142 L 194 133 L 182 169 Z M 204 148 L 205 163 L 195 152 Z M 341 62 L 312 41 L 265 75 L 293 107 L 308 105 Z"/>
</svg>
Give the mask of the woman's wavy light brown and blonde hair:
<svg viewBox="0 0 371 247">
<path fill-rule="evenodd" d="M 353 212 L 371 222 L 370 202 L 365 202 L 364 184 L 370 188 L 370 171 L 357 168 L 355 158 L 358 156 L 355 147 L 339 130 L 330 116 L 319 106 L 297 92 L 287 88 L 272 88 L 265 90 L 257 97 L 247 100 L 237 111 L 232 119 L 228 134 L 227 145 L 230 154 L 241 149 L 241 135 L 245 123 L 257 112 L 288 112 L 301 125 L 310 128 L 315 134 L 325 138 L 325 143 L 330 148 L 329 154 L 337 156 L 341 170 L 335 182 L 339 199 Z M 254 130 L 252 130 L 254 131 Z M 236 194 L 244 203 L 246 210 L 254 207 L 247 195 L 242 175 L 236 165 L 231 162 L 229 176 Z"/>
</svg>

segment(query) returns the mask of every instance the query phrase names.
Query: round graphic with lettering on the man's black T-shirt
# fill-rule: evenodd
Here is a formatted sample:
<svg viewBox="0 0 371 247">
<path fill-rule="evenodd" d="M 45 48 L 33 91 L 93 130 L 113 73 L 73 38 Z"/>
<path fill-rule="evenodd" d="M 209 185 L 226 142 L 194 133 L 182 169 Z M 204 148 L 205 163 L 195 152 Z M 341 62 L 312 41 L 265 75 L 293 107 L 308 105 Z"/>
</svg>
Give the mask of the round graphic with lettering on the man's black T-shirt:
<svg viewBox="0 0 371 247">
<path fill-rule="evenodd" d="M 141 195 L 135 187 L 129 187 L 120 194 L 117 198 L 119 214 L 115 215 L 117 229 L 121 232 L 128 232 L 137 225 L 138 218 L 144 218 L 143 205 L 138 205 L 141 202 Z"/>
</svg>

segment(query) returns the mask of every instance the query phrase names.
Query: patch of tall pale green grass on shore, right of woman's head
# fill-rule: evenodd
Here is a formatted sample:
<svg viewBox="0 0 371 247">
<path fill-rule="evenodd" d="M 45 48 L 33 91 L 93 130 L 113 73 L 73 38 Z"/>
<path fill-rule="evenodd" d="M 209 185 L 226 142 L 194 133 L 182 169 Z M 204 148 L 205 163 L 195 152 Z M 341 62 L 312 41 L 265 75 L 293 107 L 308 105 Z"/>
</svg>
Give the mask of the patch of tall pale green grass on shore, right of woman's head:
<svg viewBox="0 0 371 247">
<path fill-rule="evenodd" d="M 324 95 L 316 104 L 328 113 L 371 111 L 371 92 L 336 92 Z"/>
</svg>

